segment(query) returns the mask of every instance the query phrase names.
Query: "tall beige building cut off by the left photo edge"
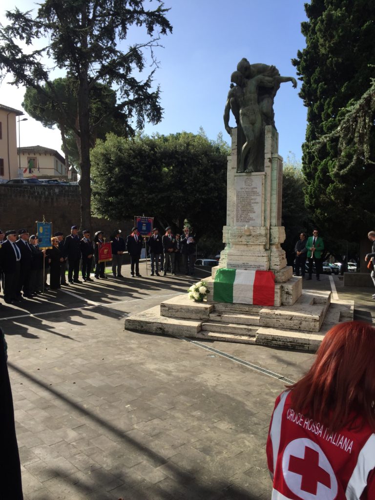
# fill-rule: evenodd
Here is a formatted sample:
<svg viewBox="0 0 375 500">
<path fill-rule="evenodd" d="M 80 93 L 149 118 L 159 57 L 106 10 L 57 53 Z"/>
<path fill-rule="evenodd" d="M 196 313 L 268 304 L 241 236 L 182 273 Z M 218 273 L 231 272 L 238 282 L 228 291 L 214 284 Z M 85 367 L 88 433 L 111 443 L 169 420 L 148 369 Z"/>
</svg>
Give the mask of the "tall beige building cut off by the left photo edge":
<svg viewBox="0 0 375 500">
<path fill-rule="evenodd" d="M 0 104 L 0 180 L 18 177 L 17 123 L 22 111 Z"/>
</svg>

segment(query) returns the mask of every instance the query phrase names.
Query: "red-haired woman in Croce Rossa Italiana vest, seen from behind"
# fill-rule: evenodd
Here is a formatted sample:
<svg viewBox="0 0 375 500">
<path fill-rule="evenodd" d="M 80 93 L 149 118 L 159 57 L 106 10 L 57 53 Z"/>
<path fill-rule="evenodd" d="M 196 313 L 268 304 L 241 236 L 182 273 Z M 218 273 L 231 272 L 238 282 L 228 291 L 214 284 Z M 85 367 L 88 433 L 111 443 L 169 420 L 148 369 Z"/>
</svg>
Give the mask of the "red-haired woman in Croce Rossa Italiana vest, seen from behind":
<svg viewBox="0 0 375 500">
<path fill-rule="evenodd" d="M 276 399 L 267 439 L 272 500 L 375 499 L 375 328 L 339 323 Z"/>
</svg>

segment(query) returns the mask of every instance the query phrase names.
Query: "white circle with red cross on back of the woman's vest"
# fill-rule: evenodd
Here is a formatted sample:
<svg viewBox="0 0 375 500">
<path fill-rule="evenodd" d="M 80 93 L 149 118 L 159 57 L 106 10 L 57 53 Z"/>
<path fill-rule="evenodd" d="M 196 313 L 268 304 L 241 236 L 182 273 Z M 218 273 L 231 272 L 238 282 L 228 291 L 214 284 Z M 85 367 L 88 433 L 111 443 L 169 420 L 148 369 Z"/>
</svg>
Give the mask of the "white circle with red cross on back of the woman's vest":
<svg viewBox="0 0 375 500">
<path fill-rule="evenodd" d="M 282 455 L 282 473 L 287 487 L 302 500 L 333 500 L 337 479 L 318 444 L 307 438 L 294 439 Z"/>
</svg>

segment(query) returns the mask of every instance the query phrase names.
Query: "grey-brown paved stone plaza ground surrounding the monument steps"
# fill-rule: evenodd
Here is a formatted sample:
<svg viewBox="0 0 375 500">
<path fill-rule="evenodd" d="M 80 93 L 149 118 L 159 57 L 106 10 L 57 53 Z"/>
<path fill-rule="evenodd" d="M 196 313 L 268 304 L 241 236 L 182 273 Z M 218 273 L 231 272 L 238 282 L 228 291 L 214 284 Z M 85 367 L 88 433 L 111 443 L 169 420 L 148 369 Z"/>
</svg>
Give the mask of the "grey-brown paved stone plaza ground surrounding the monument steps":
<svg viewBox="0 0 375 500">
<path fill-rule="evenodd" d="M 183 339 L 124 331 L 127 314 L 193 282 L 140 270 L 0 306 L 25 500 L 270 498 L 265 441 L 284 382 Z M 372 289 L 334 284 L 371 320 Z M 304 287 L 330 290 L 330 280 Z M 314 358 L 204 345 L 291 380 Z"/>
</svg>

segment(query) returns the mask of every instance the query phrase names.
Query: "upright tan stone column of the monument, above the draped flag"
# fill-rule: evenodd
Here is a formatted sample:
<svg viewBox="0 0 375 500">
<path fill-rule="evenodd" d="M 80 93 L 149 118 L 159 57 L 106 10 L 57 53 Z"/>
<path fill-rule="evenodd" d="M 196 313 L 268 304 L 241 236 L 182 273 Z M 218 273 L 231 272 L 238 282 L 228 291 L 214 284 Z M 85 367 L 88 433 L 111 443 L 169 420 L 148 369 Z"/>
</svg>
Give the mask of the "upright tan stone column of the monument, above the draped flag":
<svg viewBox="0 0 375 500">
<path fill-rule="evenodd" d="M 231 154 L 227 167 L 226 225 L 224 250 L 219 267 L 271 270 L 276 283 L 292 277 L 280 243 L 285 239 L 281 226 L 282 157 L 278 154 L 278 133 L 265 126 L 264 171 L 237 172 L 237 128 L 231 130 Z M 302 292 L 300 280 L 290 283 L 293 302 Z M 290 300 L 289 300 L 290 302 Z"/>
</svg>

